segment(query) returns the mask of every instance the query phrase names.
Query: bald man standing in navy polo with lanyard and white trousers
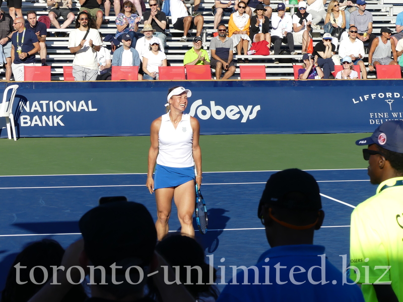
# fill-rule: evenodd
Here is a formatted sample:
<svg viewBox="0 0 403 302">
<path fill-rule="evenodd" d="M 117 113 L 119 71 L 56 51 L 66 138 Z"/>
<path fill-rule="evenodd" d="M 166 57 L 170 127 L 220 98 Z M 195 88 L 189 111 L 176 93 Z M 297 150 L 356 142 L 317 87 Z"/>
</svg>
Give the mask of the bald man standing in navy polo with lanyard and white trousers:
<svg viewBox="0 0 403 302">
<path fill-rule="evenodd" d="M 39 41 L 33 31 L 26 30 L 24 18 L 14 20 L 17 30 L 11 38 L 11 69 L 15 81 L 24 81 L 24 66 L 35 66 L 35 54 L 39 51 Z"/>
</svg>

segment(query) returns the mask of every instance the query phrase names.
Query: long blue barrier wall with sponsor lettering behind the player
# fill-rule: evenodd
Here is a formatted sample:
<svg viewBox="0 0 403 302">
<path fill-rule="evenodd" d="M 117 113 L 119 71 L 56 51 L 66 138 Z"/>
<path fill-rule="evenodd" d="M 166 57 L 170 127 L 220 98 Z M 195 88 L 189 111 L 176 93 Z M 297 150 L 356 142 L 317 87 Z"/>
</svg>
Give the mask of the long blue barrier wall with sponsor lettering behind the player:
<svg viewBox="0 0 403 302">
<path fill-rule="evenodd" d="M 372 132 L 403 119 L 401 80 L 18 84 L 20 137 L 148 135 L 173 86 L 192 91 L 186 112 L 201 134 Z"/>
</svg>

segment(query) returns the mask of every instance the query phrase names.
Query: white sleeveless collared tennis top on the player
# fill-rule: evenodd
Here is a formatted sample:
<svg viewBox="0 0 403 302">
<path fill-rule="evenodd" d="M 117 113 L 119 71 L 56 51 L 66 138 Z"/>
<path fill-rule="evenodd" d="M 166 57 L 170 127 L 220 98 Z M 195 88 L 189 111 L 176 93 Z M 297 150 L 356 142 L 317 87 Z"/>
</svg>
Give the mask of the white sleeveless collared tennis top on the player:
<svg viewBox="0 0 403 302">
<path fill-rule="evenodd" d="M 193 130 L 190 125 L 190 115 L 182 114 L 182 119 L 176 129 L 169 118 L 169 113 L 161 116 L 158 142 L 158 165 L 173 168 L 193 166 Z"/>
</svg>

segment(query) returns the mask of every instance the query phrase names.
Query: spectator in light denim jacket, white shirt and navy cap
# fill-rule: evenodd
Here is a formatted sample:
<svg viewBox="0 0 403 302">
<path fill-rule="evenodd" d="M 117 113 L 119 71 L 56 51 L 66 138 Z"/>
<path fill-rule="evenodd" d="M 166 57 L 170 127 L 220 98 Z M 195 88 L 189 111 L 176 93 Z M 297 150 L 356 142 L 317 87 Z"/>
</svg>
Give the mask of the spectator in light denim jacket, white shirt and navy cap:
<svg viewBox="0 0 403 302">
<path fill-rule="evenodd" d="M 139 66 L 138 80 L 143 80 L 140 70 L 141 60 L 137 50 L 130 46 L 131 38 L 128 34 L 122 35 L 123 46 L 119 47 L 113 53 L 112 66 Z"/>
</svg>

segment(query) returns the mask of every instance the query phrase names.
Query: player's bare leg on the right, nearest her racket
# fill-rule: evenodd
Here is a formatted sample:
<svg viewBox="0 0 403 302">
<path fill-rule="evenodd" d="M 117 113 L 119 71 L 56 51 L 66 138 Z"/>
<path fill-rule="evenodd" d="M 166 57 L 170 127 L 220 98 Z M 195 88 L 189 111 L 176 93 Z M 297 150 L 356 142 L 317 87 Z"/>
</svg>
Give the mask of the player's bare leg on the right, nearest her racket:
<svg viewBox="0 0 403 302">
<path fill-rule="evenodd" d="M 192 217 L 196 201 L 194 181 L 191 180 L 180 186 L 177 186 L 174 190 L 173 199 L 178 209 L 178 218 L 180 225 L 182 226 L 181 232 L 193 237 L 194 229 L 192 224 Z"/>
</svg>

